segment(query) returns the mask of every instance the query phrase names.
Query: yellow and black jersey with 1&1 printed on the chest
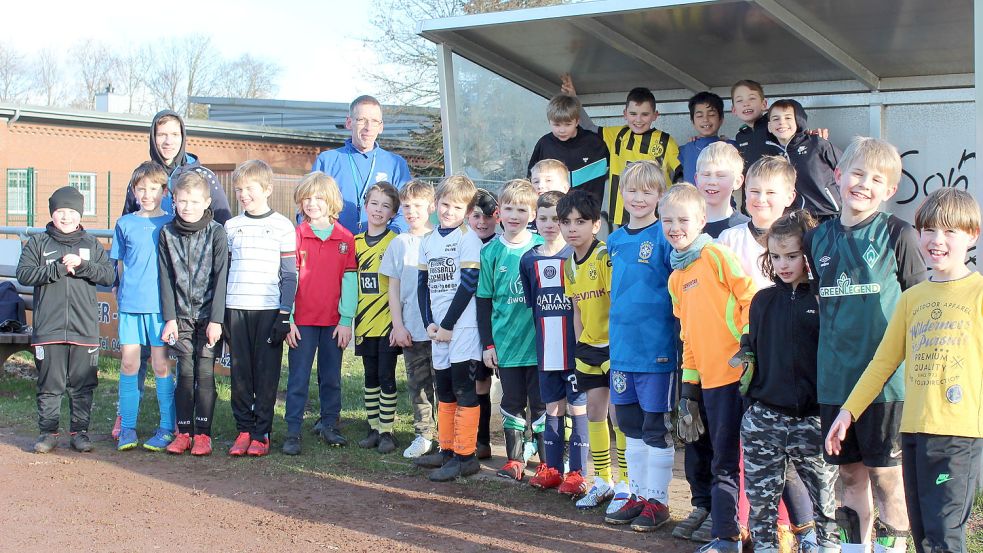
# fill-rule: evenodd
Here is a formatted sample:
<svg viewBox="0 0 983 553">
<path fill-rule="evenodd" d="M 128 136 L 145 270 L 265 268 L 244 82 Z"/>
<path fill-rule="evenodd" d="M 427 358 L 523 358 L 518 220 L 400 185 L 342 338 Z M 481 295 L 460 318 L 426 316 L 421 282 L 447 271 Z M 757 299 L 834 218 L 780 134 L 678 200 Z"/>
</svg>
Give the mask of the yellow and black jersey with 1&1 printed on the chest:
<svg viewBox="0 0 983 553">
<path fill-rule="evenodd" d="M 386 230 L 379 236 L 362 232 L 355 235 L 355 263 L 358 266 L 358 308 L 355 311 L 355 336 L 371 338 L 389 336 L 393 329 L 389 313 L 389 277 L 379 273 L 382 254 L 396 233 Z"/>
</svg>

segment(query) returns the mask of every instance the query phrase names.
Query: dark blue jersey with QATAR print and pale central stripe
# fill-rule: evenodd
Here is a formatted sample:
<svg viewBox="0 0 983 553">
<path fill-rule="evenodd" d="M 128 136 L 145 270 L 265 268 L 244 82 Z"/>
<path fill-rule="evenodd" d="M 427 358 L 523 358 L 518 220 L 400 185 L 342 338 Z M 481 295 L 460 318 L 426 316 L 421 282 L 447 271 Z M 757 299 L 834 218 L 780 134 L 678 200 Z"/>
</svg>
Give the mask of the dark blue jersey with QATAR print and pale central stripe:
<svg viewBox="0 0 983 553">
<path fill-rule="evenodd" d="M 563 267 L 573 255 L 573 248 L 566 246 L 556 255 L 546 255 L 542 249 L 540 245 L 529 250 L 519 264 L 522 290 L 536 325 L 539 370 L 573 370 L 577 342 L 573 334 L 573 304 L 563 293 Z"/>
</svg>

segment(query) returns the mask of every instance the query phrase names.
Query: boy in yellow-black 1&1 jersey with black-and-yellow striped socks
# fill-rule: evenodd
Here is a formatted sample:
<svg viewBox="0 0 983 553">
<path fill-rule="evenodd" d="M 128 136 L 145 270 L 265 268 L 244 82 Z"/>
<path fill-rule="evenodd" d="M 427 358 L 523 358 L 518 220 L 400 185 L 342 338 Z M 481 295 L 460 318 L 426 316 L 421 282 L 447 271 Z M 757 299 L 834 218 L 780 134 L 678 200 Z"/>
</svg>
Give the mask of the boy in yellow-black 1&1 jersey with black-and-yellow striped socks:
<svg viewBox="0 0 983 553">
<path fill-rule="evenodd" d="M 355 235 L 358 265 L 358 307 L 355 311 L 355 355 L 365 368 L 365 414 L 369 432 L 358 442 L 379 453 L 396 450 L 393 423 L 396 419 L 396 356 L 400 348 L 389 335 L 393 329 L 389 312 L 389 277 L 381 274 L 382 254 L 396 233 L 387 227 L 399 211 L 399 191 L 379 182 L 365 191 L 368 230 Z"/>
</svg>

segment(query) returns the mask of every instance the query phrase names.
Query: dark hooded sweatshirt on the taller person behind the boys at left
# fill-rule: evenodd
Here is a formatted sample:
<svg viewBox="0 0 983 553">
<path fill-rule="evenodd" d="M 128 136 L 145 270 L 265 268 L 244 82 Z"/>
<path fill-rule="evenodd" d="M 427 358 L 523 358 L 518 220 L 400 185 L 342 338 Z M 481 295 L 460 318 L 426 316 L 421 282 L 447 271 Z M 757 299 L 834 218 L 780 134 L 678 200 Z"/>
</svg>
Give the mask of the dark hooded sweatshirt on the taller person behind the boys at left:
<svg viewBox="0 0 983 553">
<path fill-rule="evenodd" d="M 166 116 L 176 117 L 178 124 L 181 125 L 181 149 L 178 150 L 177 155 L 174 157 L 170 165 L 164 163 L 164 158 L 160 155 L 157 150 L 157 122 L 160 121 L 162 117 Z M 188 132 L 184 127 L 184 119 L 176 111 L 165 109 L 158 112 L 154 116 L 153 121 L 150 123 L 150 159 L 156 161 L 167 171 L 167 192 L 164 193 L 164 198 L 161 201 L 160 207 L 166 213 L 171 215 L 174 214 L 174 202 L 171 197 L 171 191 L 174 189 L 174 183 L 177 181 L 178 177 L 185 171 L 194 170 L 198 167 L 204 169 L 200 163 L 198 163 L 198 157 L 194 154 L 189 154 L 185 151 L 188 144 Z M 224 225 L 226 221 L 232 218 L 232 209 L 229 206 L 229 197 L 225 194 L 225 189 L 222 188 L 221 183 L 219 183 L 218 178 L 215 174 L 208 171 L 205 175 L 208 181 L 209 191 L 212 196 L 212 203 L 209 206 L 212 210 L 212 214 L 215 218 L 215 222 Z M 208 178 L 208 175 L 211 178 Z M 130 187 L 126 188 L 126 202 L 123 204 L 123 215 L 128 213 L 134 213 L 140 210 L 140 204 L 137 203 L 136 196 L 133 195 L 133 189 Z"/>
</svg>

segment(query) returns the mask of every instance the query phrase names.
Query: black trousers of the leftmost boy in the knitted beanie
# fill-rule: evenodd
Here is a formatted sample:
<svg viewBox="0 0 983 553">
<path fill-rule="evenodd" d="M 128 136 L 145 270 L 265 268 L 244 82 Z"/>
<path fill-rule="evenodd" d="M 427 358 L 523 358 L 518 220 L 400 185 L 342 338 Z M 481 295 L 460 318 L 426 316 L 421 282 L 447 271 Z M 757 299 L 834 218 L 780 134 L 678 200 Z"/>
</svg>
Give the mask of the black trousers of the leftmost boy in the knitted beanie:
<svg viewBox="0 0 983 553">
<path fill-rule="evenodd" d="M 99 346 L 45 344 L 34 346 L 38 368 L 38 427 L 58 432 L 61 398 L 68 393 L 71 432 L 89 429 L 92 394 L 99 383 Z"/>
</svg>

